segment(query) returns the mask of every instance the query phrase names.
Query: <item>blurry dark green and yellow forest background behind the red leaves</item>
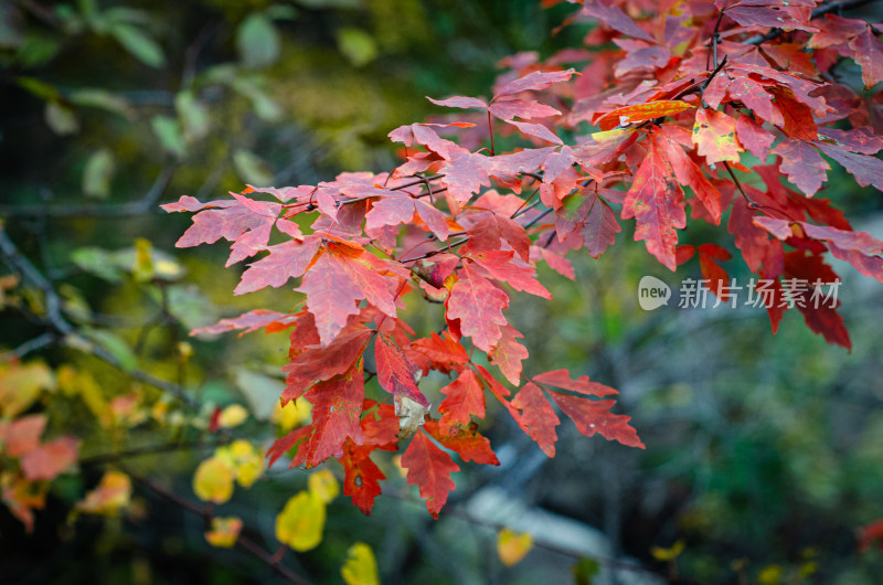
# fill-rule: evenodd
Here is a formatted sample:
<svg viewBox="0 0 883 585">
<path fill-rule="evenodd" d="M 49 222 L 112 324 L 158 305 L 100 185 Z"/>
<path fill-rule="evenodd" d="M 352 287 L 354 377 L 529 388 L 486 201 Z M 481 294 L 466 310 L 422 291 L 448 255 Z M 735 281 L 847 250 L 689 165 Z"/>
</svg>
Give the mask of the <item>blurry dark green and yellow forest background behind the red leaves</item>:
<svg viewBox="0 0 883 585">
<path fill-rule="evenodd" d="M 138 481 L 116 517 L 68 513 L 120 465 L 196 501 L 193 471 L 219 442 L 248 437 L 263 449 L 304 416 L 275 408 L 286 333 L 188 337 L 255 307 L 285 311 L 296 295 L 233 297 L 241 268 L 222 268 L 222 246 L 177 249 L 190 217 L 159 203 L 391 170 L 390 130 L 449 114 L 424 96 L 488 95 L 501 59 L 578 46 L 584 25 L 551 35 L 571 10 L 534 0 L 0 2 L 0 395 L 28 385 L 28 407 L 49 414 L 45 435 L 82 440 L 79 472 L 52 482 L 33 533 L 0 506 L 0 582 L 281 579 L 241 550 L 212 547 L 199 517 Z M 843 74 L 861 86 L 857 72 Z M 880 237 L 880 193 L 830 184 L 825 196 Z M 541 275 L 554 300 L 515 297 L 510 315 L 529 371 L 570 368 L 617 387 L 646 451 L 567 423 L 549 459 L 501 416 L 486 434 L 502 465 L 466 465 L 439 521 L 386 460 L 391 493 L 372 515 L 339 496 L 321 544 L 284 563 L 340 583 L 347 550 L 362 541 L 389 583 L 880 583 L 883 551 L 857 541 L 883 518 L 880 285 L 838 270 L 848 353 L 798 315 L 773 336 L 763 309 L 680 309 L 675 294 L 642 311 L 641 276 L 677 290 L 700 278 L 698 260 L 674 275 L 628 228 L 617 240 L 598 260 L 573 257 L 576 281 Z M 17 277 L 15 257 L 45 277 L 73 332 L 46 327 L 52 295 Z M 747 283 L 740 260 L 727 270 Z M 418 332 L 432 325 L 424 310 L 411 316 Z M 210 433 L 215 407 L 232 404 L 248 416 Z M 275 551 L 276 514 L 307 475 L 274 467 L 219 513 L 242 517 Z M 494 550 L 502 526 L 534 539 L 511 568 Z"/>
</svg>

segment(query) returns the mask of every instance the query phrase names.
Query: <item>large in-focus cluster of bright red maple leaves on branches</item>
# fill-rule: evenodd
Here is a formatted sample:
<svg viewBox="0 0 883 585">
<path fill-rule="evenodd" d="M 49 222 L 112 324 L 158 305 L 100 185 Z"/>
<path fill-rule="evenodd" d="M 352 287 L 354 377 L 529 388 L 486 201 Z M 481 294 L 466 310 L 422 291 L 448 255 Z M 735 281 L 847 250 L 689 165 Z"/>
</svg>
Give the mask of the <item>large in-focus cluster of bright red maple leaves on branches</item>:
<svg viewBox="0 0 883 585">
<path fill-rule="evenodd" d="M 688 215 L 726 223 L 777 298 L 781 279 L 834 281 L 826 253 L 883 281 L 883 242 L 816 196 L 831 168 L 822 155 L 860 185 L 883 187 L 883 99 L 869 92 L 883 81 L 880 26 L 815 0 L 570 1 L 581 8 L 565 25 L 597 23 L 585 47 L 506 60 L 489 100 L 430 99 L 459 110 L 456 121 L 390 132 L 404 157 L 391 172 L 163 205 L 198 212 L 179 247 L 224 238 L 227 266 L 252 259 L 237 295 L 296 283 L 298 310 L 257 309 L 194 333 L 290 330 L 281 401 L 307 400 L 312 421 L 276 442 L 270 464 L 338 459 L 344 493 L 365 513 L 384 479 L 376 450 L 404 448 L 407 482 L 434 515 L 455 487 L 454 455 L 497 465 L 477 425 L 488 398 L 550 457 L 557 413 L 583 435 L 642 447 L 628 416 L 611 412 L 614 389 L 564 370 L 526 376 L 528 351 L 506 313 L 513 290 L 551 298 L 538 262 L 574 278 L 566 254 L 599 257 L 623 221 L 672 270 L 698 248 L 719 295 L 728 281 L 719 262 L 732 254 L 679 245 Z M 844 61 L 864 87 L 841 81 Z M 524 148 L 499 152 L 494 134 Z M 407 296 L 444 304 L 439 332 L 416 336 Z M 812 331 L 850 348 L 836 308 L 794 306 Z M 768 309 L 774 332 L 786 310 Z M 451 380 L 440 402 L 419 387 L 433 371 Z M 392 403 L 365 397 L 374 375 Z"/>
</svg>

